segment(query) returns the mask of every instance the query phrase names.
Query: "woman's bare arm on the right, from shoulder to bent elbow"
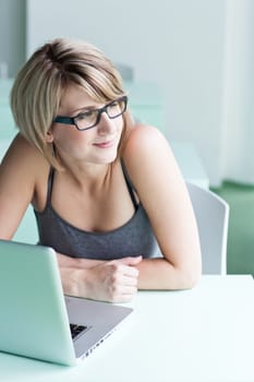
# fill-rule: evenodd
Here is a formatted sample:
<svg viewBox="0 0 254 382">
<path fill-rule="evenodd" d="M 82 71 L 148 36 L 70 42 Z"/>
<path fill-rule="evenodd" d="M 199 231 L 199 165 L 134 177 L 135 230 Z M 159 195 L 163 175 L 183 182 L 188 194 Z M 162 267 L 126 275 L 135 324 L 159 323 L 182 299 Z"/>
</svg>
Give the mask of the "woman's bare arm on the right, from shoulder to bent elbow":
<svg viewBox="0 0 254 382">
<path fill-rule="evenodd" d="M 140 289 L 192 287 L 201 275 L 201 248 L 185 182 L 164 135 L 155 128 L 132 130 L 124 164 L 150 219 L 164 258 L 138 265 Z"/>
</svg>

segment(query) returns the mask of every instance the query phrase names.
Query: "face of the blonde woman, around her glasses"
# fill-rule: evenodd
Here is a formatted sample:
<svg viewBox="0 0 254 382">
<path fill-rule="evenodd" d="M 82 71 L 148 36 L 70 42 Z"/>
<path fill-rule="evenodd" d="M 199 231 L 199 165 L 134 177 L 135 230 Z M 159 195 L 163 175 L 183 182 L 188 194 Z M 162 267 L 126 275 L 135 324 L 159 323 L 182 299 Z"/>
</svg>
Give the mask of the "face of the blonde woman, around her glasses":
<svg viewBox="0 0 254 382">
<path fill-rule="evenodd" d="M 73 85 L 64 93 L 58 115 L 75 117 L 104 106 L 93 100 L 84 88 Z M 122 116 L 110 119 L 102 112 L 99 123 L 89 130 L 78 131 L 74 124 L 55 122 L 48 141 L 55 143 L 58 155 L 65 163 L 109 164 L 117 157 L 122 129 Z"/>
</svg>

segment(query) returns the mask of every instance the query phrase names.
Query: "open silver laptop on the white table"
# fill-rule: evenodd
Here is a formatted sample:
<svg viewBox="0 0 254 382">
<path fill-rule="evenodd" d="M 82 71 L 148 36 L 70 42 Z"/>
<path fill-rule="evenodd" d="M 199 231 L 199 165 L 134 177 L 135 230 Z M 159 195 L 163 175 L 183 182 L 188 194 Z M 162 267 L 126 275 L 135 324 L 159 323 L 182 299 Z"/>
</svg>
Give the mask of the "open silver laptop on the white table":
<svg viewBox="0 0 254 382">
<path fill-rule="evenodd" d="M 0 240 L 0 350 L 72 366 L 132 309 L 63 295 L 52 248 Z"/>
</svg>

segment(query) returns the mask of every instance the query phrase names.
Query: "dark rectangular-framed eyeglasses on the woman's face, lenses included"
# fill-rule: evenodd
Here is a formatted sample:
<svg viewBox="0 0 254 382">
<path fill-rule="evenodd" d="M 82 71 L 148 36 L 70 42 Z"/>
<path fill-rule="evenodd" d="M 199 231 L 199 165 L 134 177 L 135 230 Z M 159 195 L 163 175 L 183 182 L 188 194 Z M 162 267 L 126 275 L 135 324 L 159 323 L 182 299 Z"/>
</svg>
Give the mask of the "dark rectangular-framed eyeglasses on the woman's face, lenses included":
<svg viewBox="0 0 254 382">
<path fill-rule="evenodd" d="M 110 119 L 120 117 L 126 110 L 126 104 L 128 97 L 122 96 L 99 109 L 92 109 L 88 111 L 80 112 L 75 117 L 58 116 L 55 118 L 53 122 L 74 124 L 80 131 L 88 130 L 99 123 L 102 112 L 106 112 Z"/>
</svg>

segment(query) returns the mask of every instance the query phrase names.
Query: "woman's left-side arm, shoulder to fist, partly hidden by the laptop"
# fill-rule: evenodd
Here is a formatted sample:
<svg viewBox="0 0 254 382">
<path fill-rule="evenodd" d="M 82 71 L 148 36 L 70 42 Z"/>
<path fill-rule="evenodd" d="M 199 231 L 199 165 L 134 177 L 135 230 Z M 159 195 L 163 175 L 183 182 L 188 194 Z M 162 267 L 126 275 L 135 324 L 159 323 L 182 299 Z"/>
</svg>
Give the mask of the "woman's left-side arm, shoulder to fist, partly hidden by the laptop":
<svg viewBox="0 0 254 382">
<path fill-rule="evenodd" d="M 20 135 L 0 165 L 0 238 L 11 240 L 28 206 L 46 201 L 49 165 Z M 106 301 L 129 301 L 137 290 L 141 258 L 116 261 L 73 259 L 58 254 L 65 294 Z"/>
</svg>

